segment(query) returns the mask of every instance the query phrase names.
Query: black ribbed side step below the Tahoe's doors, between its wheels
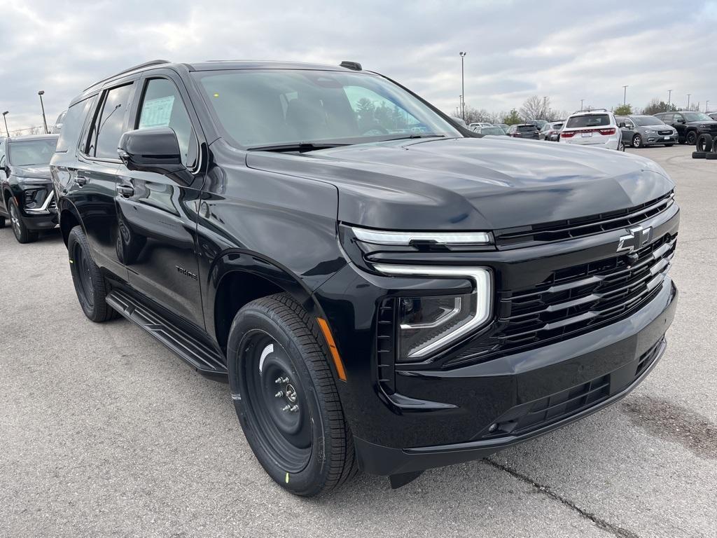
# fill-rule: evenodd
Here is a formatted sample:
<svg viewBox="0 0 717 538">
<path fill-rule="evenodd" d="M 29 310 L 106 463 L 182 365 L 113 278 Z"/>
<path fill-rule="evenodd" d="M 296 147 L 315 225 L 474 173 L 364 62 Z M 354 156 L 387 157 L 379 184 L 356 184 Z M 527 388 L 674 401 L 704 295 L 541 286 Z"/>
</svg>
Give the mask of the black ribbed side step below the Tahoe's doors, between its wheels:
<svg viewBox="0 0 717 538">
<path fill-rule="evenodd" d="M 162 344 L 174 351 L 181 359 L 202 375 L 219 381 L 227 381 L 227 367 L 222 356 L 199 339 L 179 329 L 168 319 L 143 305 L 125 291 L 114 289 L 108 293 L 109 306 L 125 316 L 133 324 L 140 326 Z"/>
</svg>

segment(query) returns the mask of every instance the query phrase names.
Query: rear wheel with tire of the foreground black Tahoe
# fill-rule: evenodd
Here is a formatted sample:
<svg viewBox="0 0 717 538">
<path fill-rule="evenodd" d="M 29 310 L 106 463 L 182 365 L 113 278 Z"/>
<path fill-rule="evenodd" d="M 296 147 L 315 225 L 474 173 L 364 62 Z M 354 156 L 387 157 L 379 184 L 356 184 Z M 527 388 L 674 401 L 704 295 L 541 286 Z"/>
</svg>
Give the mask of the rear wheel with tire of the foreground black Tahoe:
<svg viewBox="0 0 717 538">
<path fill-rule="evenodd" d="M 103 323 L 117 317 L 117 312 L 108 305 L 105 298 L 110 289 L 92 260 L 92 250 L 81 226 L 75 226 L 67 236 L 67 254 L 70 255 L 70 273 L 75 284 L 77 301 L 88 319 Z"/>
</svg>

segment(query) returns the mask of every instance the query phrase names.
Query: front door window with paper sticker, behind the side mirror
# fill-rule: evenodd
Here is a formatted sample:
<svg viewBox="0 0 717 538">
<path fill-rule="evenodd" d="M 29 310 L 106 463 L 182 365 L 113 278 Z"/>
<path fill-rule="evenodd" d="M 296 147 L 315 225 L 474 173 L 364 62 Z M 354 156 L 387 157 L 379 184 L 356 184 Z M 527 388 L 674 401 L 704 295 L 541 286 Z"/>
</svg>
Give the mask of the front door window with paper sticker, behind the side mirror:
<svg viewBox="0 0 717 538">
<path fill-rule="evenodd" d="M 184 166 L 194 166 L 197 154 L 194 131 L 179 90 L 171 80 L 155 78 L 147 82 L 137 128 L 151 127 L 171 128 L 179 141 Z"/>
</svg>

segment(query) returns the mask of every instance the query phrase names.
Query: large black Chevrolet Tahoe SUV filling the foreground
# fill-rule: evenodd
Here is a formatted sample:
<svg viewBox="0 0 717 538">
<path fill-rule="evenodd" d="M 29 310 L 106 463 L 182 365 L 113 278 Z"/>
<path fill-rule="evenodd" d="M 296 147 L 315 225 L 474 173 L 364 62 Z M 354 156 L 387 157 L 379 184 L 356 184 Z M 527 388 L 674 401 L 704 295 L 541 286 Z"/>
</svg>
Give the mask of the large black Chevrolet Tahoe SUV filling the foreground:
<svg viewBox="0 0 717 538">
<path fill-rule="evenodd" d="M 665 171 L 476 137 L 342 65 L 151 62 L 72 100 L 52 176 L 87 317 L 228 380 L 257 459 L 307 496 L 632 390 L 675 311 Z"/>
</svg>

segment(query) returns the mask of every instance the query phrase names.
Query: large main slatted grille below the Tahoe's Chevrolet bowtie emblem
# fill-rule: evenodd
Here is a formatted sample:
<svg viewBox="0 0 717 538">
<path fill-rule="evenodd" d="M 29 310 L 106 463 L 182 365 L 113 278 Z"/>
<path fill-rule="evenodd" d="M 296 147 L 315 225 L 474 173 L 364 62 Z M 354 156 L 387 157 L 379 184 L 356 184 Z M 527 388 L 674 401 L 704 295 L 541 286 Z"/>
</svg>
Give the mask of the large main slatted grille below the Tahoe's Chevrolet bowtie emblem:
<svg viewBox="0 0 717 538">
<path fill-rule="evenodd" d="M 534 349 L 614 323 L 660 291 L 675 254 L 669 234 L 627 255 L 557 270 L 546 282 L 523 291 L 498 293 L 497 330 L 442 364 L 453 367 Z"/>
</svg>

